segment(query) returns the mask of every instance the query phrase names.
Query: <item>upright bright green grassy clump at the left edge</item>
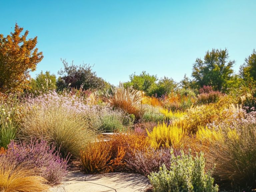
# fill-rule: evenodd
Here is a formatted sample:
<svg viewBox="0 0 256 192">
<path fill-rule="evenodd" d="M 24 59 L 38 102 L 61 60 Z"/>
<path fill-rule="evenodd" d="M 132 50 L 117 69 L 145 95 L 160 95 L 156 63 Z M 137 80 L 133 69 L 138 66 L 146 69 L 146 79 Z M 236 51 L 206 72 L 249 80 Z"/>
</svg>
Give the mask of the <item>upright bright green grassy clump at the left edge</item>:
<svg viewBox="0 0 256 192">
<path fill-rule="evenodd" d="M 17 134 L 17 126 L 11 120 L 0 119 L 0 148 L 7 149 L 7 145 L 14 140 Z"/>
</svg>

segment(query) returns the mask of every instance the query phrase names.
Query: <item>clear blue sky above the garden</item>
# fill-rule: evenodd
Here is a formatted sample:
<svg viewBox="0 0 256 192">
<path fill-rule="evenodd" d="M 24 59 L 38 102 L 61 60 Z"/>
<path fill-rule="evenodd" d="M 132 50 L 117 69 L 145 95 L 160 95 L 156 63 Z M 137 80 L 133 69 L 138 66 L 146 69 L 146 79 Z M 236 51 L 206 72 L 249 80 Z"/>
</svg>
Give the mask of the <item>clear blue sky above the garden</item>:
<svg viewBox="0 0 256 192">
<path fill-rule="evenodd" d="M 197 57 L 228 48 L 239 66 L 256 48 L 256 0 L 1 0 L 0 33 L 15 25 L 38 36 L 37 71 L 57 74 L 60 58 L 95 64 L 112 84 L 142 70 L 180 81 Z"/>
</svg>

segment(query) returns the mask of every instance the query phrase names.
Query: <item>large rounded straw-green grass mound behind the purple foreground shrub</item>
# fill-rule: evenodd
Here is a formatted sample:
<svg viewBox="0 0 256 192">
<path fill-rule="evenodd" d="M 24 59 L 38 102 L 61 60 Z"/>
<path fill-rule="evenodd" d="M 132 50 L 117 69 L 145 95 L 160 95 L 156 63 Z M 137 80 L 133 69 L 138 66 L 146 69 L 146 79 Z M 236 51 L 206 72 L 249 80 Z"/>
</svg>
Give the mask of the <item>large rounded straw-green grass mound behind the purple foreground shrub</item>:
<svg viewBox="0 0 256 192">
<path fill-rule="evenodd" d="M 43 138 L 48 144 L 54 143 L 63 156 L 79 156 L 80 150 L 95 138 L 95 131 L 82 113 L 53 103 L 28 108 L 21 128 L 19 138 L 26 141 Z"/>
</svg>

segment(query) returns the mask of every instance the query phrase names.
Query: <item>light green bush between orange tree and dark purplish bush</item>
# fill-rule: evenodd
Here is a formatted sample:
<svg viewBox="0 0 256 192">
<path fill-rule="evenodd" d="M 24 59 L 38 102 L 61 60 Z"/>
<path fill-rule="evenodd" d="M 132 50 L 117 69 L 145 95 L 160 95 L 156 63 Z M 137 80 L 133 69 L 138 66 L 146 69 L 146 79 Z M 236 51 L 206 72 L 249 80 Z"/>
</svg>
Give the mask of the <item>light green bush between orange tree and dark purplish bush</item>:
<svg viewBox="0 0 256 192">
<path fill-rule="evenodd" d="M 45 73 L 41 71 L 40 74 L 37 74 L 35 79 L 31 79 L 29 92 L 47 93 L 49 90 L 56 90 L 56 76 L 50 74 L 50 71 L 46 71 Z"/>
</svg>

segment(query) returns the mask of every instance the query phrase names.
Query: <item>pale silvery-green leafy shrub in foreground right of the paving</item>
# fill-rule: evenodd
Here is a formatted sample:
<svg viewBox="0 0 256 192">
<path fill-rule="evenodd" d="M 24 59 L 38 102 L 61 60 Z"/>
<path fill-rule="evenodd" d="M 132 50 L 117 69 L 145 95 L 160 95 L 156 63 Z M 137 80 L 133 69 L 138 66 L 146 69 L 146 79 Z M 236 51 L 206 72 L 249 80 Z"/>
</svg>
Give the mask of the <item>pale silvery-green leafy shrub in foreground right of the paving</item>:
<svg viewBox="0 0 256 192">
<path fill-rule="evenodd" d="M 193 157 L 190 152 L 175 156 L 172 151 L 169 170 L 165 165 L 159 172 L 152 172 L 148 178 L 154 192 L 218 192 L 218 186 L 213 185 L 211 171 L 204 171 L 205 159 L 203 154 Z"/>
</svg>

